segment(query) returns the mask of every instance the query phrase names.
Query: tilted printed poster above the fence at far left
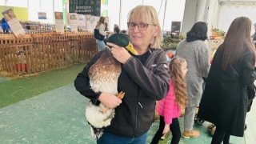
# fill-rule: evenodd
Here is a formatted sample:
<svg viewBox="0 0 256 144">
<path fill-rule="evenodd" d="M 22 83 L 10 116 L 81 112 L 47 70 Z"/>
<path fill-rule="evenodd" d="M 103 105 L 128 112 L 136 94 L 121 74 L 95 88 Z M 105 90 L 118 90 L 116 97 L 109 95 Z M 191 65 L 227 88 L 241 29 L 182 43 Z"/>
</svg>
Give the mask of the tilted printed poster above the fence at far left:
<svg viewBox="0 0 256 144">
<path fill-rule="evenodd" d="M 12 32 L 16 38 L 21 37 L 23 34 L 26 34 L 25 30 L 23 29 L 21 23 L 16 18 L 14 11 L 12 9 L 6 10 L 2 12 L 2 16 L 6 19 L 6 22 L 10 26 Z"/>
</svg>

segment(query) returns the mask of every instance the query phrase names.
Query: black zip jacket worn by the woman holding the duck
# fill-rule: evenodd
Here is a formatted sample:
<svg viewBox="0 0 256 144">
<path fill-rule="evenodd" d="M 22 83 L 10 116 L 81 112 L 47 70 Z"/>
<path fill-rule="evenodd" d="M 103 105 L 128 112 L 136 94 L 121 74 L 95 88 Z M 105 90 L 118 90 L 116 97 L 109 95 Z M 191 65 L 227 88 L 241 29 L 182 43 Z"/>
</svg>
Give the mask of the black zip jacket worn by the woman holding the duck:
<svg viewBox="0 0 256 144">
<path fill-rule="evenodd" d="M 169 90 L 169 74 L 166 66 L 166 54 L 161 49 L 149 50 L 150 55 L 144 66 L 138 58 L 131 57 L 122 65 L 122 73 L 118 78 L 118 92 L 126 92 L 122 104 L 115 110 L 110 126 L 104 131 L 122 137 L 138 137 L 145 134 L 154 122 L 156 100 L 161 100 Z M 99 52 L 78 74 L 74 86 L 94 105 L 98 105 L 98 96 L 90 89 L 88 70 L 100 58 Z"/>
</svg>

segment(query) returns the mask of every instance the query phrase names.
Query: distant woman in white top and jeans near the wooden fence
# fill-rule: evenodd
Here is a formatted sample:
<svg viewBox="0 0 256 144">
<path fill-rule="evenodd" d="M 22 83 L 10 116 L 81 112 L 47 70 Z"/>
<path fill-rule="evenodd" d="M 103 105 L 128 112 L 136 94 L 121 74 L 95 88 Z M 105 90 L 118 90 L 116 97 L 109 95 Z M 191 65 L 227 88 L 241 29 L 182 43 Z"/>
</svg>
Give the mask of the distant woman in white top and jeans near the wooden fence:
<svg viewBox="0 0 256 144">
<path fill-rule="evenodd" d="M 104 36 L 106 36 L 105 20 L 106 20 L 105 17 L 99 18 L 98 23 L 97 23 L 97 25 L 96 25 L 96 27 L 95 27 L 95 29 L 98 29 L 99 34 L 102 34 L 102 35 L 104 35 Z M 97 43 L 97 45 L 98 45 L 98 51 L 102 51 L 102 50 L 105 49 L 106 45 L 105 45 L 105 43 L 104 43 L 103 40 L 101 41 L 101 40 L 96 39 L 96 43 Z"/>
</svg>

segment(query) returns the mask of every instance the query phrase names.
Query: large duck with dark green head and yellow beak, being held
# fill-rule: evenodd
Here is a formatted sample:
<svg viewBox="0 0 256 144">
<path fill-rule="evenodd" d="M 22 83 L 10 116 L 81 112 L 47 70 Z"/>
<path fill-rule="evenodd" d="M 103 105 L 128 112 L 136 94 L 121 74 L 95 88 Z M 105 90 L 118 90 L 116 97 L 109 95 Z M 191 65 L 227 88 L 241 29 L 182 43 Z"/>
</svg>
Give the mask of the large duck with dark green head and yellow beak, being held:
<svg viewBox="0 0 256 144">
<path fill-rule="evenodd" d="M 113 34 L 108 38 L 108 42 L 125 47 L 132 54 L 138 54 L 134 50 L 127 34 Z M 91 89 L 95 93 L 110 93 L 122 99 L 125 93 L 120 92 L 118 94 L 118 77 L 121 72 L 121 63 L 113 57 L 110 47 L 106 46 L 102 56 L 90 67 L 88 72 Z M 110 126 L 114 114 L 114 108 L 107 108 L 102 103 L 99 106 L 94 106 L 91 102 L 88 103 L 86 106 L 86 119 L 90 123 L 90 132 L 94 138 L 98 139 L 102 136 L 103 127 Z"/>
</svg>

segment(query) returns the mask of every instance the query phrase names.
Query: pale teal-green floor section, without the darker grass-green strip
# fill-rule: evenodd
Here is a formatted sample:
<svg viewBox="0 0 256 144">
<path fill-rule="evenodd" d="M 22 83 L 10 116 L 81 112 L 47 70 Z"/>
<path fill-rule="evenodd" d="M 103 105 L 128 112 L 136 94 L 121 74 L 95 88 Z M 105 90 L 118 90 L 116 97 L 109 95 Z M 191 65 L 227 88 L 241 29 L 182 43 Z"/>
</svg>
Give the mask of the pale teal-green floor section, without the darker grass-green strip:
<svg viewBox="0 0 256 144">
<path fill-rule="evenodd" d="M 6 106 L 0 109 L 0 143 L 95 143 L 85 118 L 87 102 L 88 99 L 74 90 L 74 84 L 71 83 Z M 182 130 L 182 118 L 179 118 L 179 121 Z M 246 134 L 256 134 L 256 127 L 251 125 L 253 123 L 247 124 L 249 128 Z M 180 143 L 210 143 L 212 137 L 206 133 L 206 126 L 207 122 L 202 126 L 195 125 L 195 130 L 199 130 L 201 135 L 198 138 L 181 138 Z M 157 130 L 158 121 L 150 128 L 147 143 L 150 143 Z M 230 142 L 245 143 L 244 138 L 236 137 L 232 137 Z M 254 142 L 254 137 L 246 139 L 247 144 Z M 170 143 L 170 138 L 159 143 Z"/>
</svg>

